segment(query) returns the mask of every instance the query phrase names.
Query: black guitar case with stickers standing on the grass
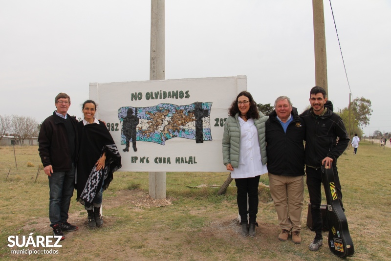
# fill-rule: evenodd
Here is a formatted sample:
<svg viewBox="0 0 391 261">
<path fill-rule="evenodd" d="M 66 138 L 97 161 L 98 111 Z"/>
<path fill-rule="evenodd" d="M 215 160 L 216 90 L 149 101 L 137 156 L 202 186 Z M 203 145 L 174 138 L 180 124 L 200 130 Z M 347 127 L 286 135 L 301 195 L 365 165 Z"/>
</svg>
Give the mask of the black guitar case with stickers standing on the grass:
<svg viewBox="0 0 391 261">
<path fill-rule="evenodd" d="M 323 165 L 321 170 L 327 199 L 328 247 L 338 257 L 352 256 L 354 254 L 353 241 L 348 229 L 348 220 L 338 200 L 333 169 Z"/>
</svg>

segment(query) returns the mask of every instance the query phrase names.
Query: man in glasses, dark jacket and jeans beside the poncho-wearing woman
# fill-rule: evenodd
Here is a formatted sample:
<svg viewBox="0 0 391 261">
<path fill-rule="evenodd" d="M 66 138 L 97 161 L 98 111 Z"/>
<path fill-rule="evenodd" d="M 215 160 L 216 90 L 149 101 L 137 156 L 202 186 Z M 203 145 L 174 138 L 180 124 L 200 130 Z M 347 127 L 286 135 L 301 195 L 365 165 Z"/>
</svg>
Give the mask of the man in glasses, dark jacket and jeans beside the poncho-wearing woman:
<svg viewBox="0 0 391 261">
<path fill-rule="evenodd" d="M 54 99 L 57 110 L 47 117 L 38 136 L 43 171 L 49 178 L 49 219 L 55 236 L 65 239 L 63 231 L 77 226 L 67 222 L 70 198 L 75 187 L 75 159 L 77 157 L 77 120 L 67 111 L 70 97 L 59 93 Z"/>
</svg>

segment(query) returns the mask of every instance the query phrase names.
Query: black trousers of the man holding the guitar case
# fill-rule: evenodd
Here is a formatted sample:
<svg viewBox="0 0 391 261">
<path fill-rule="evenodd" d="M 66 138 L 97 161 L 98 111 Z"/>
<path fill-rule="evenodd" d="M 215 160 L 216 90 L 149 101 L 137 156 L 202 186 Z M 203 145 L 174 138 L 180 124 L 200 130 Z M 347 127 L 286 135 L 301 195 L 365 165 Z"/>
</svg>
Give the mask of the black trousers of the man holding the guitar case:
<svg viewBox="0 0 391 261">
<path fill-rule="evenodd" d="M 341 204 L 342 209 L 344 210 L 344 205 L 342 204 L 341 183 L 339 182 L 337 166 L 333 166 L 333 172 L 334 172 L 335 189 L 337 190 L 338 200 L 339 203 Z M 305 173 L 307 174 L 309 202 L 311 203 L 312 225 L 315 233 L 317 235 L 322 235 L 322 224 L 323 224 L 322 213 L 321 213 L 322 171 L 320 168 L 313 169 L 310 167 L 305 167 Z"/>
</svg>

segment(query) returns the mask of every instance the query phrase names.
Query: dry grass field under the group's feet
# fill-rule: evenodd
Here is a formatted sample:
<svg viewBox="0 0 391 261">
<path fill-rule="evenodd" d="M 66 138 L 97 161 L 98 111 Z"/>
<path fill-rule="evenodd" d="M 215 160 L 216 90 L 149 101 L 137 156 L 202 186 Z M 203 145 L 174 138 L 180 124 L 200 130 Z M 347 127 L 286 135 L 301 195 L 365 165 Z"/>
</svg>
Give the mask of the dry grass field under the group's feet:
<svg viewBox="0 0 391 261">
<path fill-rule="evenodd" d="M 154 200 L 148 196 L 147 173 L 117 172 L 104 193 L 102 228 L 87 228 L 87 212 L 74 196 L 68 221 L 79 229 L 65 233 L 58 254 L 11 254 L 27 248 L 8 247 L 9 236 L 52 235 L 43 171 L 35 181 L 41 163 L 37 147 L 15 147 L 15 152 L 18 170 L 13 147 L 0 147 L 0 260 L 339 260 L 327 245 L 318 252 L 308 250 L 314 233 L 305 226 L 307 191 L 302 244 L 277 239 L 277 215 L 264 186 L 260 186 L 257 235 L 242 238 L 235 186 L 223 196 L 217 196 L 216 188 L 190 188 L 221 185 L 227 173 L 167 173 L 167 199 Z M 391 260 L 390 158 L 390 148 L 361 142 L 357 155 L 347 150 L 338 160 L 356 251 L 347 260 Z M 267 177 L 261 181 L 268 184 Z"/>
</svg>

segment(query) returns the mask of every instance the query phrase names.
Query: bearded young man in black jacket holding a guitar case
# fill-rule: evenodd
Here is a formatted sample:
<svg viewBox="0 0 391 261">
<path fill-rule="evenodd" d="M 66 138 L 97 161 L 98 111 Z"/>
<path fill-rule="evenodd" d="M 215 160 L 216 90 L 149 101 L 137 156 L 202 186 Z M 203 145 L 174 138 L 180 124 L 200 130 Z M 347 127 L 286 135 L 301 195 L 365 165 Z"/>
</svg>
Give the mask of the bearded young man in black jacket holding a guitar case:
<svg viewBox="0 0 391 261">
<path fill-rule="evenodd" d="M 332 104 L 327 101 L 325 89 L 315 86 L 311 89 L 309 95 L 311 108 L 305 110 L 300 116 L 306 126 L 305 173 L 307 174 L 312 223 L 316 233 L 309 249 L 317 251 L 323 241 L 323 220 L 320 211 L 322 202 L 321 166 L 326 163 L 326 167 L 333 167 L 337 196 L 342 209 L 344 209 L 337 170 L 337 158 L 346 150 L 350 139 L 341 117 L 332 111 Z M 339 138 L 338 144 L 337 137 Z"/>
</svg>

